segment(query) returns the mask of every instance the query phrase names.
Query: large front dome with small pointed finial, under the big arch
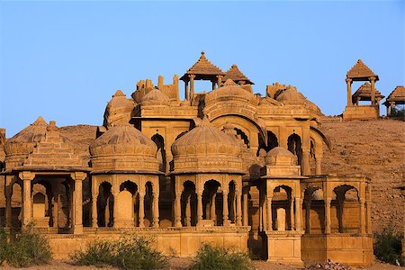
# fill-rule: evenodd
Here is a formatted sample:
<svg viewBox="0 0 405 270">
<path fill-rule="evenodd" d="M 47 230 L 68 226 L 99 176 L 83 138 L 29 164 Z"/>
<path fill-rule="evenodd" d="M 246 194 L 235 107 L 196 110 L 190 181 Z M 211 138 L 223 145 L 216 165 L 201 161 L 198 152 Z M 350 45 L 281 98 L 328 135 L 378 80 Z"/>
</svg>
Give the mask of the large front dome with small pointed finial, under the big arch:
<svg viewBox="0 0 405 270">
<path fill-rule="evenodd" d="M 175 172 L 241 171 L 240 145 L 204 118 L 172 144 Z"/>
</svg>

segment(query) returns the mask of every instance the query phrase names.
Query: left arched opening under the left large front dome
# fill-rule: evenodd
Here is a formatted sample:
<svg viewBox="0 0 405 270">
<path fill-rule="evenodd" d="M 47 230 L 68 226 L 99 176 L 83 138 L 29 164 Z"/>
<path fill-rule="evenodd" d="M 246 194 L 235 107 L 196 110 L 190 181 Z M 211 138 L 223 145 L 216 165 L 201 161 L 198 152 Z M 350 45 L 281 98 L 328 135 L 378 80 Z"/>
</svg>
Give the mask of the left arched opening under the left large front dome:
<svg viewBox="0 0 405 270">
<path fill-rule="evenodd" d="M 99 186 L 97 196 L 98 227 L 112 227 L 113 198 L 111 188 L 112 184 L 107 182 L 103 182 Z"/>
</svg>

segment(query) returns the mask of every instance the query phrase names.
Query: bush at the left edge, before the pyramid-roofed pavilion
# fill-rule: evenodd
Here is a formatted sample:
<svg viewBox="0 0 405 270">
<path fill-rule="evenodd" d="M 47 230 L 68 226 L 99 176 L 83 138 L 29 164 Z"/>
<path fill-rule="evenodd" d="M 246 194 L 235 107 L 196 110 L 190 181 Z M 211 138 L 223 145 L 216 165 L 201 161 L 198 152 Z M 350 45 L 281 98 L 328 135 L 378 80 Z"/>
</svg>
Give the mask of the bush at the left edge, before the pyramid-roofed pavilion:
<svg viewBox="0 0 405 270">
<path fill-rule="evenodd" d="M 52 257 L 48 240 L 38 234 L 25 231 L 11 238 L 4 229 L 0 229 L 0 262 L 13 267 L 44 265 Z"/>
</svg>

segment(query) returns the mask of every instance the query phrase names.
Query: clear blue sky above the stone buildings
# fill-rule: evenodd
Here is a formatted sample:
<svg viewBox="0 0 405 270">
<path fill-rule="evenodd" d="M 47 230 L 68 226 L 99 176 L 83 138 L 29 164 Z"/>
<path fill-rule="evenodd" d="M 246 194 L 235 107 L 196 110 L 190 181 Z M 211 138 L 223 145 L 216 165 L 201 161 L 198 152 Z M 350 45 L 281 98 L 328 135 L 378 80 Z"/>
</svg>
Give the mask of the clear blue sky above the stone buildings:
<svg viewBox="0 0 405 270">
<path fill-rule="evenodd" d="M 101 125 L 115 90 L 169 83 L 202 49 L 224 71 L 238 64 L 257 93 L 295 85 L 340 114 L 358 58 L 384 95 L 404 84 L 403 3 L 0 1 L 0 127 L 9 138 L 39 115 Z"/>
</svg>

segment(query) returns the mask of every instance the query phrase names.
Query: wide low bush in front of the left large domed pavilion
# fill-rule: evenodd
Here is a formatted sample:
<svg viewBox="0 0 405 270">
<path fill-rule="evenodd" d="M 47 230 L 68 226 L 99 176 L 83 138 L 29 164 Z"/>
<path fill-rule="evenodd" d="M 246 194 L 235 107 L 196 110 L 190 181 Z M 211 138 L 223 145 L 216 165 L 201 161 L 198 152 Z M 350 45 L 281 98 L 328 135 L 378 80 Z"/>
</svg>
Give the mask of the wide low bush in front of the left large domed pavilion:
<svg viewBox="0 0 405 270">
<path fill-rule="evenodd" d="M 71 256 L 77 266 L 115 266 L 121 269 L 164 269 L 166 257 L 145 238 L 94 241 Z"/>
</svg>

